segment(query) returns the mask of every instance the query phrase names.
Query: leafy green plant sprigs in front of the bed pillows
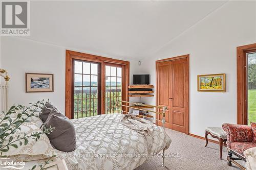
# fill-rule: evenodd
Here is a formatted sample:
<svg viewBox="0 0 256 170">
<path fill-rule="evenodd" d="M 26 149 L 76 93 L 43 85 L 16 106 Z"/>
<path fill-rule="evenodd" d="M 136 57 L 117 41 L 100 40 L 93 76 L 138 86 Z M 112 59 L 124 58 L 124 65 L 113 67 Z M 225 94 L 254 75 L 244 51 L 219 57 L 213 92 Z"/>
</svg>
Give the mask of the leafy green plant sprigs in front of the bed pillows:
<svg viewBox="0 0 256 170">
<path fill-rule="evenodd" d="M 14 138 L 14 134 L 16 131 L 20 131 L 20 126 L 23 123 L 30 122 L 29 118 L 38 117 L 38 114 L 41 109 L 45 106 L 44 100 L 37 101 L 36 103 L 30 103 L 30 106 L 22 106 L 22 105 L 13 105 L 8 111 L 3 112 L 0 117 L 0 158 L 6 157 L 3 155 L 4 152 L 8 152 L 10 147 L 18 148 L 19 145 L 28 144 L 28 138 L 32 137 L 35 141 L 37 141 L 41 135 L 50 134 L 55 128 L 47 128 L 42 130 L 41 132 L 35 132 L 32 134 L 23 133 L 22 135 L 18 135 Z M 15 144 L 15 143 L 19 143 Z M 39 164 L 40 170 L 45 169 L 46 164 L 55 157 L 53 155 L 45 164 Z M 35 169 L 37 165 L 34 165 L 32 169 Z"/>
</svg>

